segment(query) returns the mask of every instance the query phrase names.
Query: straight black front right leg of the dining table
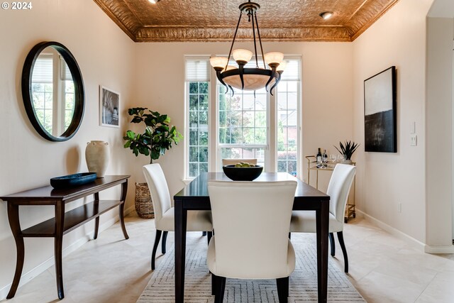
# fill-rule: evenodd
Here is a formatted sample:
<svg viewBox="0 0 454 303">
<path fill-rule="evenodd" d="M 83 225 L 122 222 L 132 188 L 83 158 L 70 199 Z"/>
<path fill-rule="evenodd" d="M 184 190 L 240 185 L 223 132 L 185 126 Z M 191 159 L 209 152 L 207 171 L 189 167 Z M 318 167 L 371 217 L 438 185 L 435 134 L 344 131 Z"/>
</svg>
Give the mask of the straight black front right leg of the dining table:
<svg viewBox="0 0 454 303">
<path fill-rule="evenodd" d="M 328 291 L 328 216 L 329 204 L 321 201 L 321 209 L 316 210 L 317 228 L 317 280 L 319 282 L 319 302 L 326 302 Z"/>
</svg>

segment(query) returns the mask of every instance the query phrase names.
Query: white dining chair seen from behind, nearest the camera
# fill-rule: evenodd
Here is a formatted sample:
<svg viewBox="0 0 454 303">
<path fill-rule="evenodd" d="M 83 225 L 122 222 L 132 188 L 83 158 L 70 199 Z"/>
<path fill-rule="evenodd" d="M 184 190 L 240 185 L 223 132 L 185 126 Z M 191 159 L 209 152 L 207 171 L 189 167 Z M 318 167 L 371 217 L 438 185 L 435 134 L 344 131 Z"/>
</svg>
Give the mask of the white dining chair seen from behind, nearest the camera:
<svg viewBox="0 0 454 303">
<path fill-rule="evenodd" d="M 215 302 L 223 301 L 226 278 L 276 279 L 279 302 L 287 302 L 295 268 L 290 242 L 297 182 L 209 181 L 214 236 L 206 262 Z"/>
</svg>

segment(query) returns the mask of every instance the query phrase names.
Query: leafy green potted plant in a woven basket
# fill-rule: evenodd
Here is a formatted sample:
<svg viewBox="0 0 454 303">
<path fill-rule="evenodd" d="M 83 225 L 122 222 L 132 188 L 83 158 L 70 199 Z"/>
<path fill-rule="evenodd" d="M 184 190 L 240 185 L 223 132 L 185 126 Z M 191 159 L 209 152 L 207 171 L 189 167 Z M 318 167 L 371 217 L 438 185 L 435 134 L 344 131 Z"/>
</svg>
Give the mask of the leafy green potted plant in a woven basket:
<svg viewBox="0 0 454 303">
<path fill-rule="evenodd" d="M 129 116 L 133 116 L 131 123 L 144 123 L 143 133 L 126 131 L 123 139 L 126 141 L 124 148 L 129 148 L 137 157 L 139 154 L 150 157 L 150 163 L 157 160 L 172 144 L 178 144 L 183 138 L 175 126 L 170 126 L 170 117 L 157 111 L 150 111 L 146 107 L 128 109 Z M 148 184 L 135 183 L 135 211 L 140 218 L 154 218 L 153 203 L 150 197 Z"/>
</svg>

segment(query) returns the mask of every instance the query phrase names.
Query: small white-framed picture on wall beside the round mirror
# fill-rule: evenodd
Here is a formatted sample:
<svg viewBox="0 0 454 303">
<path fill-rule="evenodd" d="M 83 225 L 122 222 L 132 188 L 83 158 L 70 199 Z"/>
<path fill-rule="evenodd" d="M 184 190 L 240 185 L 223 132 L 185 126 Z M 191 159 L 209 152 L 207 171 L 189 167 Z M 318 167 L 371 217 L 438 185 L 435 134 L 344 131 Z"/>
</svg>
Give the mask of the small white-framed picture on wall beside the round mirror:
<svg viewBox="0 0 454 303">
<path fill-rule="evenodd" d="M 99 125 L 120 127 L 120 94 L 99 86 Z"/>
</svg>

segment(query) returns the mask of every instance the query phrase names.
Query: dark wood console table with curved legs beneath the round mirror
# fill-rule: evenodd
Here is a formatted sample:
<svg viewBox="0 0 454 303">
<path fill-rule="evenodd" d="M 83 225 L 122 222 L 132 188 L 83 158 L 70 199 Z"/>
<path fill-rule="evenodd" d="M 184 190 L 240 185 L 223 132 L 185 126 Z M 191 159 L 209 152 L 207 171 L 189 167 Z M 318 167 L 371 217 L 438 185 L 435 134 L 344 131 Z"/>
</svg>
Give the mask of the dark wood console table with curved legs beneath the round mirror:
<svg viewBox="0 0 454 303">
<path fill-rule="evenodd" d="M 58 297 L 63 299 L 63 275 L 62 275 L 62 244 L 63 235 L 75 228 L 82 226 L 88 221 L 95 219 L 94 238 L 98 237 L 99 216 L 110 209 L 119 206 L 119 216 L 123 236 L 129 238 L 126 232 L 123 210 L 125 206 L 126 192 L 128 190 L 128 175 L 124 176 L 105 176 L 98 178 L 94 182 L 70 187 L 68 189 L 53 189 L 50 186 L 30 189 L 25 192 L 9 194 L 0 197 L 8 202 L 8 220 L 14 240 L 16 241 L 17 261 L 16 272 L 13 283 L 6 299 L 11 299 L 16 294 L 19 280 L 21 280 L 24 245 L 23 238 L 26 237 L 51 237 L 54 238 L 55 246 L 55 272 L 57 280 Z M 118 200 L 99 200 L 99 192 L 110 187 L 121 184 L 121 197 Z M 65 204 L 68 202 L 94 195 L 94 201 L 65 212 Z M 36 224 L 24 230 L 19 223 L 19 205 L 53 205 L 55 206 L 55 217 L 47 221 Z"/>
</svg>

